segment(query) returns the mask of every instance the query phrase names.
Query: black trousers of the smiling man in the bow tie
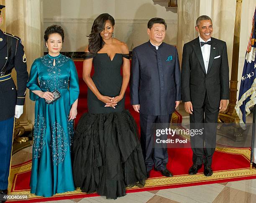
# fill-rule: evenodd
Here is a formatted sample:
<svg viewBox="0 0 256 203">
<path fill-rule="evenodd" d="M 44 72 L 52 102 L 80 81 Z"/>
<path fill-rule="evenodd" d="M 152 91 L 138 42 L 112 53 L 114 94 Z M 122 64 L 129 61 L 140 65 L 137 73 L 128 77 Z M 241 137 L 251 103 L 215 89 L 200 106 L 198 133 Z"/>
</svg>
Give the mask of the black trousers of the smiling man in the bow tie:
<svg viewBox="0 0 256 203">
<path fill-rule="evenodd" d="M 212 156 L 216 147 L 216 132 L 219 107 L 212 108 L 209 104 L 207 93 L 200 108 L 193 106 L 193 114 L 190 117 L 190 129 L 203 129 L 202 135 L 190 136 L 190 144 L 193 151 L 193 164 L 211 165 Z"/>
</svg>

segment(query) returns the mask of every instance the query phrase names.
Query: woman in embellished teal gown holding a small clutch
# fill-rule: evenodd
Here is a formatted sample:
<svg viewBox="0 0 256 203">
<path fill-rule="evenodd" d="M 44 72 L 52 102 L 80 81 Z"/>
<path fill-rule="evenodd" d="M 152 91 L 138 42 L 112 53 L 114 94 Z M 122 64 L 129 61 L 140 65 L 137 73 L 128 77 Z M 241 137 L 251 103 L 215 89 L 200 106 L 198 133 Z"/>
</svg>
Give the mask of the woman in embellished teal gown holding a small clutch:
<svg viewBox="0 0 256 203">
<path fill-rule="evenodd" d="M 74 62 L 59 53 L 64 39 L 60 26 L 46 29 L 44 39 L 49 54 L 37 58 L 31 67 L 27 88 L 36 101 L 31 171 L 31 193 L 50 197 L 75 190 L 71 145 L 77 115 L 79 84 Z M 51 104 L 51 91 L 61 97 Z"/>
</svg>

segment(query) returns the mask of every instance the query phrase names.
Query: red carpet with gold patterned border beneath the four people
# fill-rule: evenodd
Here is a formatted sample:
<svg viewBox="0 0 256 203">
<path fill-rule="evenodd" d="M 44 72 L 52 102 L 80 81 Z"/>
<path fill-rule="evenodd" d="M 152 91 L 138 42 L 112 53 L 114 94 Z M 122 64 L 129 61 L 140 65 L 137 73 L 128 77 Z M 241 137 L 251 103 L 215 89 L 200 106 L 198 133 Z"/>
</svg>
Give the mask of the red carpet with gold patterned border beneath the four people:
<svg viewBox="0 0 256 203">
<path fill-rule="evenodd" d="M 87 112 L 87 87 L 82 80 L 82 61 L 76 61 L 75 64 L 80 80 L 80 95 L 77 109 L 78 115 L 77 119 L 75 120 L 75 122 L 77 123 L 81 115 L 84 112 Z M 129 102 L 130 101 L 128 88 L 125 98 L 125 108 L 130 110 L 137 124 L 139 124 L 139 115 L 132 109 Z M 176 117 L 178 117 L 178 121 L 181 122 L 179 114 L 177 113 L 175 115 Z M 181 139 L 182 137 L 179 138 Z M 169 162 L 167 164 L 167 168 L 172 171 L 174 177 L 166 178 L 163 177 L 161 173 L 152 170 L 150 178 L 146 181 L 146 185 L 144 188 L 128 188 L 127 193 L 256 178 L 256 169 L 250 170 L 250 148 L 217 147 L 213 156 L 212 163 L 212 169 L 214 170 L 214 173 L 210 177 L 205 177 L 203 175 L 202 168 L 196 175 L 187 174 L 189 167 L 192 165 L 192 150 L 189 148 L 189 142 L 182 145 L 180 148 L 168 148 L 168 154 Z M 73 192 L 56 194 L 51 198 L 38 197 L 30 193 L 30 174 L 31 160 L 26 163 L 11 167 L 8 188 L 9 195 L 27 195 L 27 197 L 29 198 L 28 200 L 21 200 L 19 202 L 44 202 L 50 200 L 63 200 L 97 196 L 97 193 L 86 194 L 82 193 L 81 190 L 77 189 Z"/>
</svg>

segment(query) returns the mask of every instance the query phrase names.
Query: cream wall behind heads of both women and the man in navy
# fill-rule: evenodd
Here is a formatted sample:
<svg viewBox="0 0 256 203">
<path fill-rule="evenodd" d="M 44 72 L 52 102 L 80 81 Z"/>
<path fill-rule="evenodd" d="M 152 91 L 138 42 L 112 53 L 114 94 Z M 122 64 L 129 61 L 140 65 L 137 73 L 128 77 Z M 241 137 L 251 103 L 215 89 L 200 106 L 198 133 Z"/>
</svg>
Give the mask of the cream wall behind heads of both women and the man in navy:
<svg viewBox="0 0 256 203">
<path fill-rule="evenodd" d="M 148 40 L 147 23 L 154 17 L 166 20 L 165 42 L 177 44 L 177 13 L 152 0 L 44 0 L 44 30 L 61 25 L 65 31 L 62 51 L 83 51 L 93 20 L 101 13 L 115 18 L 115 38 L 127 43 L 129 50 Z"/>
</svg>

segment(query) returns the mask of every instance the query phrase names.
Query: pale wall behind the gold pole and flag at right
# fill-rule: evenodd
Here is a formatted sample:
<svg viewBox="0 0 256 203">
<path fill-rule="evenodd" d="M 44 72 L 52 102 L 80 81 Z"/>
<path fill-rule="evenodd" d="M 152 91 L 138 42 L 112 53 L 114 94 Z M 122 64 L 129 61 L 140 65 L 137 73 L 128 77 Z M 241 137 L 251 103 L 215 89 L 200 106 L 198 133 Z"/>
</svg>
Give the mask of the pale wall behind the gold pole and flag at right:
<svg viewBox="0 0 256 203">
<path fill-rule="evenodd" d="M 240 31 L 240 47 L 238 61 L 238 91 L 241 84 L 241 75 L 243 72 L 243 64 L 245 53 L 251 34 L 252 18 L 256 6 L 256 0 L 243 0 L 241 11 L 241 31 Z M 227 43 L 229 73 L 232 69 L 233 55 L 233 38 L 236 16 L 236 0 L 214 0 L 213 4 L 213 37 L 224 40 Z"/>
</svg>

